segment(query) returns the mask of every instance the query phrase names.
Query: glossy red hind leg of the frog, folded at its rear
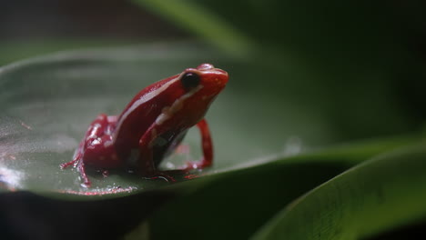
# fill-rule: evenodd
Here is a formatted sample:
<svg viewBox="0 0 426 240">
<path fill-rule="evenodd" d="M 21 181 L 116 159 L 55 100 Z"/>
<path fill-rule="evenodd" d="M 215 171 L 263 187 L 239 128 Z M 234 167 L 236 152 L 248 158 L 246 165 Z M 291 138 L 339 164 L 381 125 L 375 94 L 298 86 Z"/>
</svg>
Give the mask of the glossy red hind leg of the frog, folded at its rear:
<svg viewBox="0 0 426 240">
<path fill-rule="evenodd" d="M 117 165 L 117 154 L 112 145 L 112 128 L 117 123 L 117 116 L 98 115 L 76 149 L 73 160 L 60 165 L 61 168 L 74 165 L 77 167 L 85 186 L 90 186 L 86 175 L 86 164 L 96 167 Z"/>
</svg>

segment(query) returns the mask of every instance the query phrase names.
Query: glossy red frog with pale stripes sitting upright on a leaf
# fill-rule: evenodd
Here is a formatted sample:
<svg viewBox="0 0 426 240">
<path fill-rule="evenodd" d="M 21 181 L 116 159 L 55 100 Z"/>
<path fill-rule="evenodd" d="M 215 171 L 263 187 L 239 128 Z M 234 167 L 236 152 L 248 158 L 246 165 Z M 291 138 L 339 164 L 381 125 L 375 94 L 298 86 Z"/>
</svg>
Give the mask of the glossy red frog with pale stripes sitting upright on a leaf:
<svg viewBox="0 0 426 240">
<path fill-rule="evenodd" d="M 183 170 L 212 165 L 213 145 L 204 115 L 227 83 L 227 72 L 202 64 L 148 85 L 121 115 L 98 115 L 73 160 L 61 168 L 75 165 L 86 187 L 90 186 L 86 165 L 100 169 L 129 167 L 140 175 L 174 181 L 157 166 L 193 125 L 201 134 L 203 157 L 199 162 L 189 162 Z"/>
</svg>

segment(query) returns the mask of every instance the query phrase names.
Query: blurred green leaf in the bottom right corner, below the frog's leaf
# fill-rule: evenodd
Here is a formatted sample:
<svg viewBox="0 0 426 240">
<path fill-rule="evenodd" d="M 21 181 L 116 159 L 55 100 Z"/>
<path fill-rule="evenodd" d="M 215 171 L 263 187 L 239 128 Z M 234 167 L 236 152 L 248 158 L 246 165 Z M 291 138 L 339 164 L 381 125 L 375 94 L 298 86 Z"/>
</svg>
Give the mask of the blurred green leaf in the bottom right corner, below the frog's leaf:
<svg viewBox="0 0 426 240">
<path fill-rule="evenodd" d="M 403 148 L 351 168 L 288 205 L 252 239 L 359 239 L 424 217 L 425 149 Z"/>
</svg>

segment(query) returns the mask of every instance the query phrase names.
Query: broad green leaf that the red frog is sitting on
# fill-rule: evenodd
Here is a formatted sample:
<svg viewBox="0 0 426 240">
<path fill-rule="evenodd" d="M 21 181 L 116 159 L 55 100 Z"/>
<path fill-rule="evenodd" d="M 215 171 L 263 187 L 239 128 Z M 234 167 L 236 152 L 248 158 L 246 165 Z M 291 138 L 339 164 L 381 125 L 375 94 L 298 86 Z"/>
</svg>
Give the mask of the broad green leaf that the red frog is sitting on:
<svg viewBox="0 0 426 240">
<path fill-rule="evenodd" d="M 329 135 L 322 130 L 327 129 L 320 126 L 322 121 L 319 126 L 304 124 L 315 118 L 312 111 L 289 105 L 287 111 L 277 112 L 274 107 L 277 96 L 245 95 L 253 91 L 252 86 L 257 87 L 249 83 L 257 81 L 253 74 L 260 75 L 262 69 L 254 69 L 248 75 L 249 65 L 202 45 L 157 44 L 71 51 L 0 68 L 2 188 L 66 199 L 103 199 L 168 186 L 164 181 L 144 180 L 117 170 L 106 178 L 101 173 L 90 172 L 93 187 L 86 189 L 80 186 L 75 169 L 61 170 L 59 165 L 72 158 L 87 125 L 96 115 L 117 115 L 146 85 L 203 62 L 211 62 L 231 75 L 227 89 L 207 115 L 216 160 L 215 166 L 203 175 L 227 171 L 249 159 L 287 151 L 288 147 L 298 152 L 304 147 L 301 139 L 327 142 Z M 253 109 L 259 115 L 253 116 Z M 288 130 L 282 125 L 277 131 L 276 125 L 286 121 L 290 114 L 312 117 L 291 120 L 294 124 Z M 253 122 L 247 121 L 249 118 Z M 297 141 L 292 141 L 295 130 L 299 134 Z M 259 143 L 259 137 L 269 142 Z M 287 140 L 291 140 L 289 145 Z M 200 145 L 196 131 L 189 133 L 185 144 L 190 146 L 190 154 L 173 155 L 164 161 L 164 167 L 181 165 L 188 158 L 198 159 Z"/>
</svg>

